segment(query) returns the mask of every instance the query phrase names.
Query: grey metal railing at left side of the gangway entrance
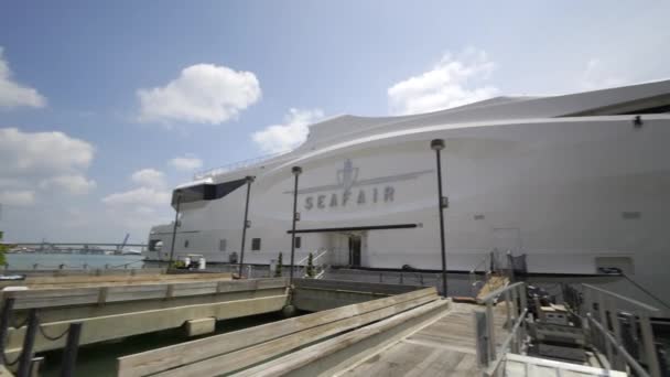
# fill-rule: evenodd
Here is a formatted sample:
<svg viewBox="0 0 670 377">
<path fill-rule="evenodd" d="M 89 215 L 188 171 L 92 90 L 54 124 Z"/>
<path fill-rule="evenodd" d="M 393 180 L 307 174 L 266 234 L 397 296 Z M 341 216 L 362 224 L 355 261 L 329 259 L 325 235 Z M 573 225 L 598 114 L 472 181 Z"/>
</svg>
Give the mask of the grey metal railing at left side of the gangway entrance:
<svg viewBox="0 0 670 377">
<path fill-rule="evenodd" d="M 504 327 L 509 331 L 500 347 L 497 348 L 494 303 L 501 303 L 500 297 L 504 298 L 507 316 Z M 506 354 L 510 351 L 518 354 L 523 347 L 527 333 L 525 319 L 528 313 L 526 283 L 517 282 L 499 288 L 483 297 L 480 302 L 486 305 L 486 311 L 476 311 L 473 314 L 475 316 L 477 366 L 484 376 L 497 376 Z"/>
</svg>

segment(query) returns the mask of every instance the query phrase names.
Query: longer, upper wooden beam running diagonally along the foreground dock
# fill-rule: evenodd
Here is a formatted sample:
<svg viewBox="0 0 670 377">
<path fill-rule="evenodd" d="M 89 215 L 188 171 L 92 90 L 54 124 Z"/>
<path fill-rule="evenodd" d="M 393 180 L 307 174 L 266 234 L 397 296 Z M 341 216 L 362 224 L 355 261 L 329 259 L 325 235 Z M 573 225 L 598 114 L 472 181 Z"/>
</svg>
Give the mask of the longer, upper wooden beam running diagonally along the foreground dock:
<svg viewBox="0 0 670 377">
<path fill-rule="evenodd" d="M 120 357 L 118 375 L 216 376 L 437 300 L 434 288 Z"/>
</svg>

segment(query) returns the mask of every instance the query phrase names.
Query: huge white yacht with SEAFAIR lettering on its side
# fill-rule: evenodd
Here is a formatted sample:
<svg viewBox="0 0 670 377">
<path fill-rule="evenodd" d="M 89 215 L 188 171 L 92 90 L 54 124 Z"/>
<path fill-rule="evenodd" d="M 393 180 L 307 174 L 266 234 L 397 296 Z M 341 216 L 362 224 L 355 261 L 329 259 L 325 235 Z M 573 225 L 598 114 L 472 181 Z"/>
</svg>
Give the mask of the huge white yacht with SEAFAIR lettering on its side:
<svg viewBox="0 0 670 377">
<path fill-rule="evenodd" d="M 315 123 L 289 153 L 177 186 L 174 252 L 239 255 L 253 176 L 245 262 L 288 262 L 300 166 L 296 260 L 329 250 L 333 265 L 440 270 L 433 139 L 450 271 L 501 250 L 525 255 L 529 273 L 623 271 L 670 301 L 670 80 Z M 168 260 L 172 236 L 153 227 L 147 258 Z"/>
</svg>

